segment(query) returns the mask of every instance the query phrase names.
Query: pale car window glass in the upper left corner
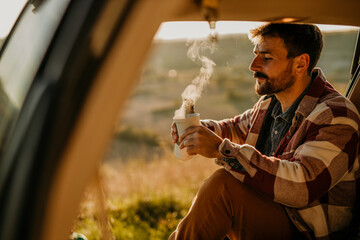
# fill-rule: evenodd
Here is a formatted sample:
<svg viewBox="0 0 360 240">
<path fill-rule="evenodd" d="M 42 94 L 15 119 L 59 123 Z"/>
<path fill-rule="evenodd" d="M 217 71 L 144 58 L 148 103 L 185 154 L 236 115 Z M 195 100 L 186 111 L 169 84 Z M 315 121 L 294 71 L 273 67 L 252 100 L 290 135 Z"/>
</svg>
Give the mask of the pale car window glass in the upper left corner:
<svg viewBox="0 0 360 240">
<path fill-rule="evenodd" d="M 59 23 L 69 1 L 34 2 L 37 4 L 28 4 L 25 7 L 20 19 L 22 24 L 15 27 L 1 51 L 0 151 L 23 106 L 26 94 L 54 34 L 55 26 Z M 18 5 L 18 8 L 21 10 L 21 5 Z M 4 9 L 6 5 L 2 11 Z M 18 14 L 19 9 L 17 9 Z M 14 16 L 12 20 L 17 18 L 17 15 Z M 12 26 L 13 22 L 10 25 Z"/>
</svg>

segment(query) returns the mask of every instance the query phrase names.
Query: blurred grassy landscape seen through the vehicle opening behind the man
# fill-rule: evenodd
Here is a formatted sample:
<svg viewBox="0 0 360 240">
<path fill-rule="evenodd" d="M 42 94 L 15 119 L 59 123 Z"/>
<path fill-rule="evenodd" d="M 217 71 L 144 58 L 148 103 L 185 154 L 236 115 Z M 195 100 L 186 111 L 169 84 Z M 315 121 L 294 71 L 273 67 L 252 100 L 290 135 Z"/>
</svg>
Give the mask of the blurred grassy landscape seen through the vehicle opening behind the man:
<svg viewBox="0 0 360 240">
<path fill-rule="evenodd" d="M 350 79 L 356 35 L 355 31 L 324 34 L 318 67 L 342 93 Z M 172 154 L 172 117 L 181 105 L 182 91 L 201 67 L 187 58 L 188 48 L 184 40 L 153 43 L 139 84 L 114 127 L 99 174 L 109 228 L 116 239 L 167 239 L 203 180 L 218 168 L 211 159 L 197 156 L 181 162 Z M 252 107 L 258 96 L 248 70 L 253 45 L 247 35 L 220 36 L 214 53 L 204 54 L 216 66 L 195 105 L 201 118 L 230 118 Z M 88 239 L 102 239 L 94 191 L 90 186 L 74 230 Z"/>
</svg>

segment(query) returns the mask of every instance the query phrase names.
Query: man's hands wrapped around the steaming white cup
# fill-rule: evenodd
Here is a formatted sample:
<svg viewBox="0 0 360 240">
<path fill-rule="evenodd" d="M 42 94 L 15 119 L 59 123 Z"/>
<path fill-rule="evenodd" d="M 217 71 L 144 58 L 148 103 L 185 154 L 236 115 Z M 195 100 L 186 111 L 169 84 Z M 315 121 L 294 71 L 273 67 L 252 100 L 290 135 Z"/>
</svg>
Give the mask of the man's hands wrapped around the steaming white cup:
<svg viewBox="0 0 360 240">
<path fill-rule="evenodd" d="M 177 136 L 177 131 L 173 133 Z M 173 140 L 177 141 L 177 139 L 173 137 Z M 204 126 L 189 127 L 179 138 L 180 149 L 186 148 L 190 155 L 200 154 L 208 158 L 222 157 L 218 150 L 222 141 L 221 137 Z"/>
</svg>

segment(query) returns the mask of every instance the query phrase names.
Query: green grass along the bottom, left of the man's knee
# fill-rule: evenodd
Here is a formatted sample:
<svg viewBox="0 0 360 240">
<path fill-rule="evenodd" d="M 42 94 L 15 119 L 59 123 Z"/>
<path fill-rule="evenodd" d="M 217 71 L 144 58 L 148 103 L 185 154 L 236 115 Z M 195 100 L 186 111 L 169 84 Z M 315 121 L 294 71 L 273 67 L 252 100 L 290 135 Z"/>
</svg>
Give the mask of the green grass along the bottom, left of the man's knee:
<svg viewBox="0 0 360 240">
<path fill-rule="evenodd" d="M 167 239 L 189 208 L 188 204 L 165 196 L 111 205 L 114 207 L 107 211 L 107 216 L 112 235 L 115 239 L 129 240 Z M 79 216 L 74 230 L 89 240 L 102 239 L 95 215 Z"/>
</svg>

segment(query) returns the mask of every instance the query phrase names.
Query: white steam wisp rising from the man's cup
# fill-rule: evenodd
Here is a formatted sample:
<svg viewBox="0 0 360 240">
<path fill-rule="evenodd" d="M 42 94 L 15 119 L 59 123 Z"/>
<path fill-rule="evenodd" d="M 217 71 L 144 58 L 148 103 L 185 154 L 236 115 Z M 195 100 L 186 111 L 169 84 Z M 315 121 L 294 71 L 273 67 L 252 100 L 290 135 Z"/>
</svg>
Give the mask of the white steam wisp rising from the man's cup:
<svg viewBox="0 0 360 240">
<path fill-rule="evenodd" d="M 182 105 L 175 111 L 174 119 L 182 119 L 186 114 L 194 113 L 194 105 L 200 98 L 204 87 L 209 83 L 215 63 L 204 55 L 206 50 L 213 53 L 215 44 L 207 40 L 195 40 L 191 43 L 187 56 L 194 62 L 201 64 L 199 75 L 194 78 L 181 94 Z"/>
</svg>

